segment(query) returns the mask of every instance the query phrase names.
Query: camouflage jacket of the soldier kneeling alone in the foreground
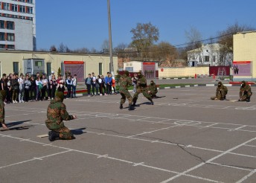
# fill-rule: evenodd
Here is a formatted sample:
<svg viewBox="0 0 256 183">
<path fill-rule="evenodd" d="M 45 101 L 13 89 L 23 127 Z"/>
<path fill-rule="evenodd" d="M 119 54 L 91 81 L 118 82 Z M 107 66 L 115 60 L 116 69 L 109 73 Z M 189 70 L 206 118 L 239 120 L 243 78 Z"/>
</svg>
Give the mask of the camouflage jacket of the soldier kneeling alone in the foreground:
<svg viewBox="0 0 256 183">
<path fill-rule="evenodd" d="M 48 129 L 59 129 L 64 126 L 63 120 L 72 120 L 73 116 L 68 115 L 65 104 L 61 100 L 52 100 L 47 109 L 47 120 L 45 121 Z"/>
</svg>

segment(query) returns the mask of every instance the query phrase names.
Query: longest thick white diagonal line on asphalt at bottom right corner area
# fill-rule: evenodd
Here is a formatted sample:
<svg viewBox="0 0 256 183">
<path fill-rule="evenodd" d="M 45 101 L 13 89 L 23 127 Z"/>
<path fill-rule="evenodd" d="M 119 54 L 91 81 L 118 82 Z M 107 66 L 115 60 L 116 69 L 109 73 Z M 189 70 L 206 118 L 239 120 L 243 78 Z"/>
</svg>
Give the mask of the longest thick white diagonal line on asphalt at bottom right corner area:
<svg viewBox="0 0 256 183">
<path fill-rule="evenodd" d="M 216 155 L 216 156 L 214 156 L 213 158 L 209 159 L 208 161 L 205 161 L 205 162 L 203 162 L 203 163 L 197 164 L 196 166 L 191 167 L 190 169 L 185 170 L 184 172 L 179 173 L 179 174 L 177 174 L 176 176 L 173 176 L 173 177 L 171 177 L 170 179 L 167 179 L 167 180 L 165 180 L 165 181 L 163 181 L 163 182 L 161 182 L 161 183 L 170 182 L 170 181 L 172 181 L 173 179 L 178 178 L 179 176 L 183 176 L 183 175 L 185 175 L 186 173 L 191 172 L 192 170 L 196 170 L 197 168 L 202 167 L 202 165 L 204 165 L 204 164 L 207 164 L 207 163 L 209 163 L 209 162 L 211 162 L 211 161 L 214 161 L 215 159 L 220 158 L 220 157 L 223 156 L 223 155 L 226 155 L 226 154 L 228 154 L 228 153 L 231 153 L 231 151 L 236 150 L 236 149 L 239 148 L 239 147 L 242 147 L 244 144 L 247 144 L 247 143 L 249 143 L 249 142 L 251 142 L 251 141 L 255 141 L 255 139 L 256 139 L 256 138 L 251 138 L 249 141 L 246 141 L 246 142 L 244 142 L 244 143 L 242 143 L 242 144 L 239 144 L 239 145 L 237 145 L 236 147 L 232 147 L 231 149 L 226 150 L 226 151 L 223 152 L 223 153 L 220 153 L 220 155 Z"/>
</svg>

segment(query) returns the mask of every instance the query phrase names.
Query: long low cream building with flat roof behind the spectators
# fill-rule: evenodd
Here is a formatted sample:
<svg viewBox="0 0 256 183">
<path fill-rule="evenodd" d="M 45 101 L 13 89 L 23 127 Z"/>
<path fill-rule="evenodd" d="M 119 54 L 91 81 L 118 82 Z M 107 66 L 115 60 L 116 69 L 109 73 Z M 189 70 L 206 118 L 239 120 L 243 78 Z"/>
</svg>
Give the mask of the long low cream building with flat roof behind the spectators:
<svg viewBox="0 0 256 183">
<path fill-rule="evenodd" d="M 110 69 L 108 54 L 77 54 L 40 51 L 5 51 L 0 50 L 0 75 L 10 73 L 45 73 L 57 75 L 60 68 L 63 76 L 70 71 L 77 74 L 77 80 L 83 81 L 88 74 L 106 75 Z M 118 70 L 118 57 L 113 56 L 114 73 Z"/>
</svg>

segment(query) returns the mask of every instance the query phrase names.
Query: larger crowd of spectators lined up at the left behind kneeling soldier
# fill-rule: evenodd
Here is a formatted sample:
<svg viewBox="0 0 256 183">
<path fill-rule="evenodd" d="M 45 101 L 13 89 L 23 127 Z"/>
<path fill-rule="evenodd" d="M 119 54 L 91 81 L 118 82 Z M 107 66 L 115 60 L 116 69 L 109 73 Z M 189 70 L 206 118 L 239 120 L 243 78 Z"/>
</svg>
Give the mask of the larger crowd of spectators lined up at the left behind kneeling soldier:
<svg viewBox="0 0 256 183">
<path fill-rule="evenodd" d="M 56 78 L 54 71 L 48 77 L 43 73 L 2 74 L 0 90 L 7 92 L 4 103 L 25 103 L 28 101 L 54 100 L 55 92 L 68 90 L 66 98 L 76 97 L 77 75 L 68 75 L 64 81 L 61 75 Z"/>
</svg>

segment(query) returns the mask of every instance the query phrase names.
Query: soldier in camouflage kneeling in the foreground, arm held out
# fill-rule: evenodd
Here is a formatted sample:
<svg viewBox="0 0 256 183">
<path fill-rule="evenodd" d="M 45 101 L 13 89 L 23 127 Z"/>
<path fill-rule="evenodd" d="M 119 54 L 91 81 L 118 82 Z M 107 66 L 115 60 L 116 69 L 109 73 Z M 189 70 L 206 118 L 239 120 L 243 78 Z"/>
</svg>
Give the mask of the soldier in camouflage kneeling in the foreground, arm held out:
<svg viewBox="0 0 256 183">
<path fill-rule="evenodd" d="M 49 141 L 54 141 L 57 138 L 63 140 L 74 139 L 74 135 L 71 131 L 64 126 L 63 120 L 74 120 L 77 117 L 75 115 L 68 115 L 63 99 L 63 92 L 57 92 L 55 99 L 51 100 L 51 103 L 48 106 L 47 120 L 45 121 L 45 124 L 47 128 L 51 130 L 48 132 Z"/>
</svg>

